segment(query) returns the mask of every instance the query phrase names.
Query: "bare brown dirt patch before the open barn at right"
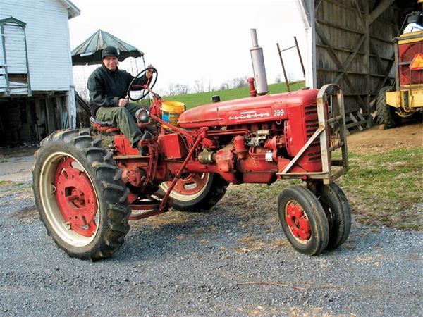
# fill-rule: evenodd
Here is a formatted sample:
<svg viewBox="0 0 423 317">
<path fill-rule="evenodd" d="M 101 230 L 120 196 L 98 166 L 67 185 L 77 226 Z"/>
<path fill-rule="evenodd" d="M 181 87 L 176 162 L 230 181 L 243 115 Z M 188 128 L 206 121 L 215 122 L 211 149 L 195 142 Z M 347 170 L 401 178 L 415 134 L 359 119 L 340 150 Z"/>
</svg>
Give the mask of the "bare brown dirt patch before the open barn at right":
<svg viewBox="0 0 423 317">
<path fill-rule="evenodd" d="M 381 130 L 379 126 L 348 136 L 348 151 L 358 154 L 379 153 L 390 149 L 423 147 L 423 123 L 410 122 L 398 128 Z"/>
</svg>

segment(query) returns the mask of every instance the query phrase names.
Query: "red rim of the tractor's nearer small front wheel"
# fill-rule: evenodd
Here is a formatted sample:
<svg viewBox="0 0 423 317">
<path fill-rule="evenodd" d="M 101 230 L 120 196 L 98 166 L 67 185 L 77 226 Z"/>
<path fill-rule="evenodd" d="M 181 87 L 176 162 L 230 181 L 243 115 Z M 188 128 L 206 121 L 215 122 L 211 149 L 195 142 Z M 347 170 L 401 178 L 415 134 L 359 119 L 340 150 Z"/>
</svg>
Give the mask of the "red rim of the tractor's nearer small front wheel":
<svg viewBox="0 0 423 317">
<path fill-rule="evenodd" d="M 307 242 L 312 236 L 312 227 L 302 206 L 297 201 L 290 201 L 286 205 L 285 215 L 286 223 L 294 237 Z"/>
</svg>

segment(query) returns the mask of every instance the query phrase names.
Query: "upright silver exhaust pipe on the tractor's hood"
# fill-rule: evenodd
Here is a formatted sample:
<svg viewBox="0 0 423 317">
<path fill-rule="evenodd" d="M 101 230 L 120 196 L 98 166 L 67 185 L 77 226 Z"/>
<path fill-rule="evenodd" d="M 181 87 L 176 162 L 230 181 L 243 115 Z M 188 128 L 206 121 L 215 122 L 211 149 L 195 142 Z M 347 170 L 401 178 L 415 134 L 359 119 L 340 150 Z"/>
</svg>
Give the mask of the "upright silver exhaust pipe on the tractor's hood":
<svg viewBox="0 0 423 317">
<path fill-rule="evenodd" d="M 267 86 L 266 67 L 264 66 L 263 49 L 259 47 L 256 29 L 251 29 L 251 39 L 252 49 L 250 49 L 250 53 L 252 61 L 252 71 L 255 77 L 257 94 L 267 94 L 269 92 L 269 87 Z"/>
</svg>

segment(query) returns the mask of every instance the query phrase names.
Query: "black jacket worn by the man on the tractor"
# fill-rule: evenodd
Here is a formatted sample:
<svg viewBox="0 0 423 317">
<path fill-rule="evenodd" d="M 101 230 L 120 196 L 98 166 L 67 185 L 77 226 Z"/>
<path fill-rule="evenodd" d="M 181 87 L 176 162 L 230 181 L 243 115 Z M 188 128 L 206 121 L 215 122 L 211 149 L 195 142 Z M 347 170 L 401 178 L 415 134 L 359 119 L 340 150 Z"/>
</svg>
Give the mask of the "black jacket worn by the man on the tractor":
<svg viewBox="0 0 423 317">
<path fill-rule="evenodd" d="M 87 88 L 90 91 L 90 111 L 95 118 L 97 109 L 100 107 L 117 107 L 118 101 L 126 97 L 133 75 L 125 70 L 111 71 L 102 65 L 92 72 L 88 78 Z M 145 85 L 147 78 L 140 77 L 137 85 Z"/>
</svg>

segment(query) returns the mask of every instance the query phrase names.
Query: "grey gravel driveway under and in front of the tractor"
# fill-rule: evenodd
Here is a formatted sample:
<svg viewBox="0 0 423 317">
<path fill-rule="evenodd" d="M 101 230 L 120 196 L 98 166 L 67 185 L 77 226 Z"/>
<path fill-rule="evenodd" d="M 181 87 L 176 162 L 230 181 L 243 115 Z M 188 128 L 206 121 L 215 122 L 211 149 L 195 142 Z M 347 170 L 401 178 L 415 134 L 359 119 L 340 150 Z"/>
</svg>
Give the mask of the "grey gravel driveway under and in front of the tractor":
<svg viewBox="0 0 423 317">
<path fill-rule="evenodd" d="M 423 316 L 423 232 L 353 220 L 343 246 L 304 256 L 283 236 L 276 197 L 243 201 L 229 187 L 209 213 L 132 223 L 93 263 L 56 247 L 21 181 L 0 187 L 3 316 Z"/>
</svg>

